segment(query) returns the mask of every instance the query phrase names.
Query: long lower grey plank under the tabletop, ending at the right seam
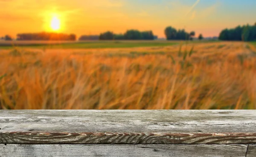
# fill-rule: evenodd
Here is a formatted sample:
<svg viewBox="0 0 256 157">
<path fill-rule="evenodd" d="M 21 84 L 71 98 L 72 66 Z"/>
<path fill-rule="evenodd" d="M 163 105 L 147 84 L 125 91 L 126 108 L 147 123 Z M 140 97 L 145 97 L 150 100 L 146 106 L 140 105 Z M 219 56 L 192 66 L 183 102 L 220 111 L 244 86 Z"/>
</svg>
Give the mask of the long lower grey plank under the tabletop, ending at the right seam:
<svg viewBox="0 0 256 157">
<path fill-rule="evenodd" d="M 245 157 L 247 145 L 0 144 L 3 157 Z"/>
</svg>

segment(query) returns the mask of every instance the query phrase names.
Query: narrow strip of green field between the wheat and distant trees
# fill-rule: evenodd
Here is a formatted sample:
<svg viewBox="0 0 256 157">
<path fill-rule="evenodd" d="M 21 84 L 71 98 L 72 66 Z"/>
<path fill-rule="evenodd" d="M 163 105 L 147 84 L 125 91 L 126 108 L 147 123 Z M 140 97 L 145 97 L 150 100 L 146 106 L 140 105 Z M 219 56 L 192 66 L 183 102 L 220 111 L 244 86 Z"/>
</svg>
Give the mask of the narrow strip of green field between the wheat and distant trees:
<svg viewBox="0 0 256 157">
<path fill-rule="evenodd" d="M 172 46 L 183 43 L 198 42 L 218 42 L 218 41 L 84 41 L 84 42 L 58 42 L 58 41 L 2 41 L 0 49 L 11 49 L 14 47 L 23 48 L 50 48 L 50 49 L 85 49 L 85 48 L 137 48 L 137 47 L 154 47 L 154 46 Z"/>
</svg>

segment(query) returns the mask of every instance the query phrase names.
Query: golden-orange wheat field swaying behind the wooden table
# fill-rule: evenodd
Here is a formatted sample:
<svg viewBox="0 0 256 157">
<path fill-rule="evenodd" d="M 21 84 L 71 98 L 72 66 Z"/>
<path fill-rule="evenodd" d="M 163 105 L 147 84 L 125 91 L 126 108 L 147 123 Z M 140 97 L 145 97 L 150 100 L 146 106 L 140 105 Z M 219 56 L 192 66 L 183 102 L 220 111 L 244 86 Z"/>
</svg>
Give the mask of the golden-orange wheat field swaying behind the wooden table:
<svg viewBox="0 0 256 157">
<path fill-rule="evenodd" d="M 256 109 L 256 48 L 0 50 L 0 109 Z"/>
</svg>

